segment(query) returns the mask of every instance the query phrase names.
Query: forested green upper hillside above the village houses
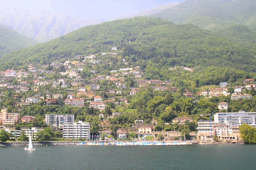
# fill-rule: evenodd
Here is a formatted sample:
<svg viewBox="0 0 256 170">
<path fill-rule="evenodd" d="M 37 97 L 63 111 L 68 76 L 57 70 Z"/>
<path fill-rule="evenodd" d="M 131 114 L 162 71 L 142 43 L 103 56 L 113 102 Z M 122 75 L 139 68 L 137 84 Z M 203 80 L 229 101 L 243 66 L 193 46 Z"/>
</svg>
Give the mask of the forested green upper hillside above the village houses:
<svg viewBox="0 0 256 170">
<path fill-rule="evenodd" d="M 134 62 L 163 59 L 163 65 L 228 66 L 256 71 L 254 56 L 232 41 L 193 25 L 176 25 L 150 17 L 90 25 L 44 44 L 9 53 L 0 62 L 5 68 L 15 67 L 17 61 L 45 63 L 57 57 L 106 52 L 112 46 L 121 49 L 123 57 L 133 57 Z"/>
</svg>

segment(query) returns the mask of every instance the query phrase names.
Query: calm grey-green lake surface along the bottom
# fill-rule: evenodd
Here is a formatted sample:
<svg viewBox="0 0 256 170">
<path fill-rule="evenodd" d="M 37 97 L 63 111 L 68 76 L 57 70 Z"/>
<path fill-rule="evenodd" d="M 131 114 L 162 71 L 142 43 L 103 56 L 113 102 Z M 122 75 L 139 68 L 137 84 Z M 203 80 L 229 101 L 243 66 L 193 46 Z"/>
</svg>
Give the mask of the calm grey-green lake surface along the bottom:
<svg viewBox="0 0 256 170">
<path fill-rule="evenodd" d="M 256 145 L 0 147 L 0 170 L 255 170 Z"/>
</svg>

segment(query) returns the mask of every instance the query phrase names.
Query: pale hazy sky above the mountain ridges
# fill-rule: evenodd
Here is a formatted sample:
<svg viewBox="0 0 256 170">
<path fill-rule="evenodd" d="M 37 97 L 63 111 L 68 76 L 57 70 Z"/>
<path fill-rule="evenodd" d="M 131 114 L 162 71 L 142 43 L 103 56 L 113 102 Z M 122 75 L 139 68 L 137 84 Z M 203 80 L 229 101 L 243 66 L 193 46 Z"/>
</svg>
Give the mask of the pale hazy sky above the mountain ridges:
<svg viewBox="0 0 256 170">
<path fill-rule="evenodd" d="M 184 0 L 0 0 L 0 6 L 20 9 L 48 9 L 83 19 L 110 19 L 144 9 Z"/>
</svg>

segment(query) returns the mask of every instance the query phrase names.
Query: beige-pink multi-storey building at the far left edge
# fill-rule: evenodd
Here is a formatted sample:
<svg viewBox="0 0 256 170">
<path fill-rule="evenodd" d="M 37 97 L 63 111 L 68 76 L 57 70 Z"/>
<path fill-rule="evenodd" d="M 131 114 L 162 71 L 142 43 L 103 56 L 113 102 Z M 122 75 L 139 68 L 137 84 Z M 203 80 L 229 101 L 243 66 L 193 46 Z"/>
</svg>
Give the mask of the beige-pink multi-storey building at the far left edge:
<svg viewBox="0 0 256 170">
<path fill-rule="evenodd" d="M 2 108 L 0 113 L 1 125 L 15 125 L 19 123 L 18 113 L 7 113 L 7 108 Z"/>
</svg>

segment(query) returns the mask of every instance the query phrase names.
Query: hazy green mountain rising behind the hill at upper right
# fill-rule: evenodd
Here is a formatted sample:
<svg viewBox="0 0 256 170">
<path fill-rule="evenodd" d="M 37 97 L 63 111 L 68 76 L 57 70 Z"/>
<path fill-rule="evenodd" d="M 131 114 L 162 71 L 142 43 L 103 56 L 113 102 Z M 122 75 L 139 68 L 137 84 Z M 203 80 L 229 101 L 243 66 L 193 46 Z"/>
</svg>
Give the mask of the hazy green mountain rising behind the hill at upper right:
<svg viewBox="0 0 256 170">
<path fill-rule="evenodd" d="M 255 0 L 185 0 L 153 16 L 197 25 L 243 46 L 256 41 Z"/>
</svg>

